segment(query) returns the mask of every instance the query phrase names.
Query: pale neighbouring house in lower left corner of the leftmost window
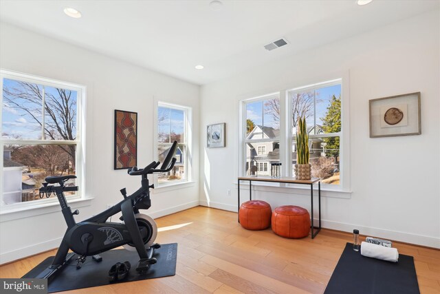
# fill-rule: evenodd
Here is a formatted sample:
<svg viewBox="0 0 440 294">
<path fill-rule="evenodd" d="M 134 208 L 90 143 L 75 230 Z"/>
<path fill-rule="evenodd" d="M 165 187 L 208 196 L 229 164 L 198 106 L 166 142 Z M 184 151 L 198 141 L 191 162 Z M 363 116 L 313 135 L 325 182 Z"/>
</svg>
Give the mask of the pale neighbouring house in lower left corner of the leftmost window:
<svg viewBox="0 0 440 294">
<path fill-rule="evenodd" d="M 11 160 L 12 149 L 3 149 L 3 203 L 12 204 L 21 202 L 22 183 L 21 174 L 25 167 L 19 162 Z"/>
</svg>

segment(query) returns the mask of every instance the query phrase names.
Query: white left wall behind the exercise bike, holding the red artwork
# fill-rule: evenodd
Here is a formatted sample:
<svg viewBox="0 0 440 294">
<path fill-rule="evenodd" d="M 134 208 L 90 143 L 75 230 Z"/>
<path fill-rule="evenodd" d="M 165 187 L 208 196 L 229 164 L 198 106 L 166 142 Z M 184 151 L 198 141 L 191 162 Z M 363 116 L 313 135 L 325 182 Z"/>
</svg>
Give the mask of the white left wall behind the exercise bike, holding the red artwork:
<svg viewBox="0 0 440 294">
<path fill-rule="evenodd" d="M 1 23 L 0 66 L 87 87 L 86 187 L 91 206 L 80 209 L 83 220 L 122 200 L 123 187 L 132 193 L 140 177 L 126 170 L 113 170 L 113 111 L 137 112 L 138 165 L 154 160 L 153 100 L 192 107 L 193 124 L 199 123 L 199 86 L 111 59 L 41 34 Z M 130 46 L 130 44 L 126 44 Z M 197 130 L 197 129 L 196 129 Z M 148 214 L 164 216 L 199 204 L 199 134 L 192 136 L 195 185 L 174 191 L 153 193 Z M 158 192 L 158 191 L 156 191 Z M 27 213 L 23 213 L 25 216 Z M 53 249 L 66 229 L 58 211 L 40 216 L 5 221 L 0 218 L 0 264 Z"/>
</svg>

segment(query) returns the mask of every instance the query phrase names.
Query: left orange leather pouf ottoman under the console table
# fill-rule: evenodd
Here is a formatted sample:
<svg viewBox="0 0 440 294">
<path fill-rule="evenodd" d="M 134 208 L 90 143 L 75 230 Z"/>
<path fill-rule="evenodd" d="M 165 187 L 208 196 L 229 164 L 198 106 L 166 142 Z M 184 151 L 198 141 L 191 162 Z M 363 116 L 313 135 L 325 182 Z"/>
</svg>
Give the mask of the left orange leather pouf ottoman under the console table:
<svg viewBox="0 0 440 294">
<path fill-rule="evenodd" d="M 272 208 L 270 204 L 262 200 L 250 200 L 243 202 L 239 211 L 241 227 L 248 230 L 263 230 L 270 226 Z"/>
</svg>

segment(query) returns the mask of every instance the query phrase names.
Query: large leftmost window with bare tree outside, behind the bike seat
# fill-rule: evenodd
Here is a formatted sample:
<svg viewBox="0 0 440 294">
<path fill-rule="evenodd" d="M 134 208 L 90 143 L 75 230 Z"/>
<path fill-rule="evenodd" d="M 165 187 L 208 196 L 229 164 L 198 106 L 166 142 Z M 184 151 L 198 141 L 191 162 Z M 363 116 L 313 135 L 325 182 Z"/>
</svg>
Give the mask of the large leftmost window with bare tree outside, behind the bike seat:
<svg viewBox="0 0 440 294">
<path fill-rule="evenodd" d="M 54 194 L 52 199 L 39 196 L 47 176 L 76 174 L 66 185 L 80 185 L 85 88 L 5 70 L 1 83 L 0 204 L 55 200 Z M 79 197 L 80 191 L 67 196 Z"/>
</svg>

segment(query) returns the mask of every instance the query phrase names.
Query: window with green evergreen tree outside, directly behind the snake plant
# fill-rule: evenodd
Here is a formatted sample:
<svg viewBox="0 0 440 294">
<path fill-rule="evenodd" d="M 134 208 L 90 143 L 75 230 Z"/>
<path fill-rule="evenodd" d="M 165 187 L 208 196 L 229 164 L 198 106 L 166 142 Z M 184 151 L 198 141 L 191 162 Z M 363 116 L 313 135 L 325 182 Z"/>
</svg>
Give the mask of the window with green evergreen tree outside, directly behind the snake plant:
<svg viewBox="0 0 440 294">
<path fill-rule="evenodd" d="M 306 118 L 311 174 L 323 184 L 340 184 L 341 83 L 320 84 L 287 92 L 292 122 L 292 175 L 296 164 L 296 125 Z"/>
</svg>

